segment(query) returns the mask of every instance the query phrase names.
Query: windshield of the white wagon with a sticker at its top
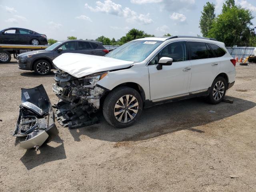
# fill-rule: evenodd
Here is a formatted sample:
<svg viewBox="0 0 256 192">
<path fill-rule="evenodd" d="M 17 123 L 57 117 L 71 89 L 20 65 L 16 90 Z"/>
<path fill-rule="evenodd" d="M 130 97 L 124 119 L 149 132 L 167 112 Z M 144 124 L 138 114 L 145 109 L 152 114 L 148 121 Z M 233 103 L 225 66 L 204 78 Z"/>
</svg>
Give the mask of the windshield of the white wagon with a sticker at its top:
<svg viewBox="0 0 256 192">
<path fill-rule="evenodd" d="M 115 50 L 111 51 L 106 57 L 120 60 L 142 62 L 152 53 L 162 41 L 136 40 L 130 41 Z"/>
</svg>

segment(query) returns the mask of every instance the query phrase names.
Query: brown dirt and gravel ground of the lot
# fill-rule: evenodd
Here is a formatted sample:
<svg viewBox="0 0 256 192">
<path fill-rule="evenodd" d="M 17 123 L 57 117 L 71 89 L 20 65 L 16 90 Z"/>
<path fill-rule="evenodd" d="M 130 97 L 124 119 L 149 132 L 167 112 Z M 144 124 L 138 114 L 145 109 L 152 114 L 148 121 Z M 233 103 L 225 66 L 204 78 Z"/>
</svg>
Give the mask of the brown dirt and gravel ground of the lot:
<svg viewBox="0 0 256 192">
<path fill-rule="evenodd" d="M 20 88 L 43 84 L 54 104 L 53 74 L 0 64 L 0 191 L 256 191 L 256 65 L 236 70 L 234 104 L 155 106 L 125 129 L 102 116 L 74 130 L 56 123 L 59 136 L 36 152 L 18 150 L 11 135 Z"/>
</svg>

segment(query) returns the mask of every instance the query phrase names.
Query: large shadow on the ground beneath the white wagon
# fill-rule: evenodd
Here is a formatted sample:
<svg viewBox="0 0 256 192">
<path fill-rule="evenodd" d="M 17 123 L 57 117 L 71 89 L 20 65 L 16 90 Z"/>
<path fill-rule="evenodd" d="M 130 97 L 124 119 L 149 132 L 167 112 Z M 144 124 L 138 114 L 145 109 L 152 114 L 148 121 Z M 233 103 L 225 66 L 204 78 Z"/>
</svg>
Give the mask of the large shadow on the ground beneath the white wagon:
<svg viewBox="0 0 256 192">
<path fill-rule="evenodd" d="M 218 105 L 212 105 L 204 102 L 202 98 L 192 98 L 147 108 L 144 109 L 136 124 L 124 129 L 110 126 L 101 113 L 99 124 L 71 129 L 70 133 L 78 142 L 81 135 L 98 140 L 122 142 L 146 140 L 180 130 L 204 133 L 196 127 L 239 114 L 256 106 L 256 103 L 248 100 L 227 98 L 234 100 L 234 103 L 221 102 Z"/>
</svg>

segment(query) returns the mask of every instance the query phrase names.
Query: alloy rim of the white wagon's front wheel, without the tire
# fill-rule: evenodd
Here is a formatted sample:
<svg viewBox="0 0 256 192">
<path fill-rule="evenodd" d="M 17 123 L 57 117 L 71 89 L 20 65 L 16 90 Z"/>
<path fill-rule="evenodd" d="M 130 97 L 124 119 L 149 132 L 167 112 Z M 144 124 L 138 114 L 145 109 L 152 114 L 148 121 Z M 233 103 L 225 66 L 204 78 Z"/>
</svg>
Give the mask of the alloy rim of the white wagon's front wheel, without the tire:
<svg viewBox="0 0 256 192">
<path fill-rule="evenodd" d="M 114 107 L 114 116 L 121 123 L 128 123 L 138 113 L 139 103 L 135 96 L 124 95 L 118 99 Z"/>
</svg>

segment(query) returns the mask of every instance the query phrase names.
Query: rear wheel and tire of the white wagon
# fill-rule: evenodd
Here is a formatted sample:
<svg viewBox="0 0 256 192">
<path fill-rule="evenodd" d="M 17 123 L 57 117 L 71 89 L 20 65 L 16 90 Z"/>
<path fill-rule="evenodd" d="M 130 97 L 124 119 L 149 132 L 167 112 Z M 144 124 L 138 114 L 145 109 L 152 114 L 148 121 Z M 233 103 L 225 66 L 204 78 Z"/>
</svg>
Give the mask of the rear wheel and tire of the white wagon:
<svg viewBox="0 0 256 192">
<path fill-rule="evenodd" d="M 212 86 L 210 88 L 210 93 L 208 95 L 208 101 L 211 104 L 218 104 L 218 103 L 220 103 L 224 99 L 224 97 L 225 97 L 226 90 L 227 90 L 227 82 L 226 82 L 226 80 L 223 77 L 217 77 L 213 81 Z"/>
</svg>

